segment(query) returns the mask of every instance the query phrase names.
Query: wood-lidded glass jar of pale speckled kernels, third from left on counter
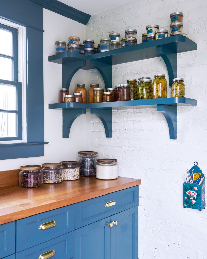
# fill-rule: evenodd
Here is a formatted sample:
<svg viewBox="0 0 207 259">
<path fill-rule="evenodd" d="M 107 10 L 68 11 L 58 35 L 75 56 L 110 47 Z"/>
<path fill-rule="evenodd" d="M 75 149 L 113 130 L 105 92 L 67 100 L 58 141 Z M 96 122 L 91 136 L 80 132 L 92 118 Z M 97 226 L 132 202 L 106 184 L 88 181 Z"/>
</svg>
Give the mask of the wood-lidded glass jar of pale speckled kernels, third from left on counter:
<svg viewBox="0 0 207 259">
<path fill-rule="evenodd" d="M 78 161 L 62 161 L 63 180 L 77 180 L 80 178 L 80 167 Z"/>
</svg>

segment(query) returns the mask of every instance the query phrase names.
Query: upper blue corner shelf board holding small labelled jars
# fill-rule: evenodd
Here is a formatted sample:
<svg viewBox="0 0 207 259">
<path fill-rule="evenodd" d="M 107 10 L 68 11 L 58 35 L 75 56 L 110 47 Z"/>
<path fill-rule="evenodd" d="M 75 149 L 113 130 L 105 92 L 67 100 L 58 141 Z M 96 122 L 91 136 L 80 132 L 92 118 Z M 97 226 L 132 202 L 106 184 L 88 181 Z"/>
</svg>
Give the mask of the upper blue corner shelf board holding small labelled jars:
<svg viewBox="0 0 207 259">
<path fill-rule="evenodd" d="M 76 61 L 86 61 L 83 69 L 92 69 L 90 61 L 95 60 L 109 65 L 128 63 L 137 60 L 159 57 L 159 47 L 164 47 L 173 53 L 181 53 L 197 49 L 197 44 L 185 36 L 177 35 L 165 39 L 139 43 L 125 48 L 114 49 L 102 53 L 85 56 L 79 53 L 65 52 L 48 57 L 48 61 L 58 64 L 69 64 Z"/>
</svg>

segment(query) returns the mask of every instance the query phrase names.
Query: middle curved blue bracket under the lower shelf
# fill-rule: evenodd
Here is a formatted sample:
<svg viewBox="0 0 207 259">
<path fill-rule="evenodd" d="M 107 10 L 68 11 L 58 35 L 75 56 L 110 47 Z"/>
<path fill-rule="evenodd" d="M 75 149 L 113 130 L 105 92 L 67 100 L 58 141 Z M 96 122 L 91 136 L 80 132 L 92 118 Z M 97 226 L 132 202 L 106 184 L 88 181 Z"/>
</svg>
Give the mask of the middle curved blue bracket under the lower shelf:
<svg viewBox="0 0 207 259">
<path fill-rule="evenodd" d="M 106 138 L 112 138 L 112 108 L 91 109 L 91 113 L 99 117 L 104 125 Z"/>
</svg>

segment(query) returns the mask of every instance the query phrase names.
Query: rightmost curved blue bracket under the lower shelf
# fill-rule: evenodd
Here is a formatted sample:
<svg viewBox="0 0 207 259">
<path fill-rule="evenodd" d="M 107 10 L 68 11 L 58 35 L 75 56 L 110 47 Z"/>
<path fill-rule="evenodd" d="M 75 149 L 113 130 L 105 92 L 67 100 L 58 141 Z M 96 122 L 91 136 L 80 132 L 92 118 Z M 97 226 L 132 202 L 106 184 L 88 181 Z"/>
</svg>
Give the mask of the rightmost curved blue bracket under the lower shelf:
<svg viewBox="0 0 207 259">
<path fill-rule="evenodd" d="M 177 105 L 158 104 L 157 110 L 165 116 L 170 139 L 177 139 Z"/>
</svg>

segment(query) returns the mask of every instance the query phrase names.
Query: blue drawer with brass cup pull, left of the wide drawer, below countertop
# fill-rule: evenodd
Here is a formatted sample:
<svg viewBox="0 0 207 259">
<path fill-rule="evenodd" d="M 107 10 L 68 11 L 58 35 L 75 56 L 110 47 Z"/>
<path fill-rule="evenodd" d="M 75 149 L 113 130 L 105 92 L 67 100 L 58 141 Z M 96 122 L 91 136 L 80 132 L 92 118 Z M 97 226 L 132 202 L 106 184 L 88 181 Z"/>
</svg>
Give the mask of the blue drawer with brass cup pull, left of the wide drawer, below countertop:
<svg viewBox="0 0 207 259">
<path fill-rule="evenodd" d="M 16 252 L 73 231 L 74 221 L 74 204 L 17 220 Z"/>
</svg>

